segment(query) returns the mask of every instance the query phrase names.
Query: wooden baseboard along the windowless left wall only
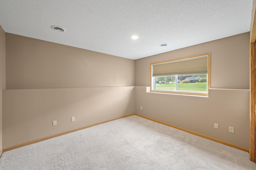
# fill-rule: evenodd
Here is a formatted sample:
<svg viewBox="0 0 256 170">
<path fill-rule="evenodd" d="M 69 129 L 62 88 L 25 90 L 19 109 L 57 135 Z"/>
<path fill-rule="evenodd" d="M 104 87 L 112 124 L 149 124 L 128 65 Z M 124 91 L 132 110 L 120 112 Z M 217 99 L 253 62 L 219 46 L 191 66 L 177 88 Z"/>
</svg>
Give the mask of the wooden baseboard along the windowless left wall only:
<svg viewBox="0 0 256 170">
<path fill-rule="evenodd" d="M 132 116 L 132 115 L 135 115 L 135 113 L 132 113 L 130 115 L 125 115 L 125 116 L 122 116 L 122 117 L 118 117 L 118 118 L 115 118 L 115 119 L 111 119 L 111 120 L 108 120 L 108 121 L 104 121 L 104 122 L 100 122 L 100 123 L 95 123 L 93 125 L 88 125 L 86 127 L 80 127 L 80 128 L 76 128 L 76 129 L 73 129 L 73 130 L 68 130 L 66 132 L 61 132 L 61 133 L 58 133 L 58 134 L 53 134 L 51 136 L 46 136 L 46 137 L 43 137 L 43 138 L 31 140 L 31 141 L 28 141 L 28 142 L 24 142 L 22 144 L 17 144 L 17 145 L 14 145 L 14 146 L 10 146 L 8 148 L 3 148 L 2 152 L 6 152 L 8 150 L 13 150 L 13 149 L 20 148 L 20 147 L 23 147 L 23 146 L 27 146 L 27 145 L 30 145 L 30 144 L 34 144 L 34 143 L 37 143 L 37 142 L 41 142 L 41 141 L 44 141 L 44 140 L 48 140 L 50 138 L 55 138 L 55 137 L 58 137 L 58 136 L 62 136 L 64 134 L 72 133 L 72 132 L 75 132 L 75 131 L 78 131 L 78 130 L 82 130 L 82 129 L 85 129 L 85 128 L 89 128 L 89 127 L 93 127 L 93 126 L 96 126 L 96 125 L 100 125 L 102 123 L 107 123 L 107 122 L 114 121 L 114 120 L 117 120 L 117 119 L 121 119 L 121 118 L 124 118 L 124 117 L 129 117 L 129 116 Z"/>
</svg>

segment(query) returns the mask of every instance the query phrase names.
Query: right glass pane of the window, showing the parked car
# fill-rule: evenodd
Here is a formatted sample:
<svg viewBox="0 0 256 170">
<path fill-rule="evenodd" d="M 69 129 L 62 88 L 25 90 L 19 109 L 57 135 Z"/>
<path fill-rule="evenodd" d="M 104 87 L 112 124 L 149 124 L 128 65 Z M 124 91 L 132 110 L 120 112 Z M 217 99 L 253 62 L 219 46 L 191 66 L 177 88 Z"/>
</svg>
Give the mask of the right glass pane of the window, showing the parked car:
<svg viewBox="0 0 256 170">
<path fill-rule="evenodd" d="M 207 91 L 207 74 L 179 75 L 178 90 Z"/>
</svg>

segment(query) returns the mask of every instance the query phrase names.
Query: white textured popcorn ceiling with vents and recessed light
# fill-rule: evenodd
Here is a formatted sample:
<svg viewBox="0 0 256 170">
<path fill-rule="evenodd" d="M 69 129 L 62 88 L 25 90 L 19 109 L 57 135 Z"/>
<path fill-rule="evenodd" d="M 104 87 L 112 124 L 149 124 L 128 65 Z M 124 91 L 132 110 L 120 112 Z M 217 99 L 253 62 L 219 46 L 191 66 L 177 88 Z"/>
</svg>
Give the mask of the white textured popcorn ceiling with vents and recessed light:
<svg viewBox="0 0 256 170">
<path fill-rule="evenodd" d="M 139 59 L 249 32 L 252 1 L 0 0 L 0 25 L 12 34 Z"/>
</svg>

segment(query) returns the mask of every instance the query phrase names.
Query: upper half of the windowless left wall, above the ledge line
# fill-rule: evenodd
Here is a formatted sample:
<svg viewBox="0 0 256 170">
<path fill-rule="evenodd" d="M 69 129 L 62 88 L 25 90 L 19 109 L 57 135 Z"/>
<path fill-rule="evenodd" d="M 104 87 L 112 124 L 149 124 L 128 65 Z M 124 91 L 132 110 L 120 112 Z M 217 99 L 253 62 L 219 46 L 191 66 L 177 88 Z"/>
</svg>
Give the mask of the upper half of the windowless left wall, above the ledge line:
<svg viewBox="0 0 256 170">
<path fill-rule="evenodd" d="M 134 86 L 134 60 L 6 33 L 6 89 Z"/>
</svg>

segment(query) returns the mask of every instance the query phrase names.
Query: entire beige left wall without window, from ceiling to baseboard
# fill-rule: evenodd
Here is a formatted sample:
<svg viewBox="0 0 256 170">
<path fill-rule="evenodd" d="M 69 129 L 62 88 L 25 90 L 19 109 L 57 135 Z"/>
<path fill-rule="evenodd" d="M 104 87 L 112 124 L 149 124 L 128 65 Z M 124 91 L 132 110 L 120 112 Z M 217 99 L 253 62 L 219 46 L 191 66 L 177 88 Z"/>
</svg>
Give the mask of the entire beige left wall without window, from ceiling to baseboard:
<svg viewBox="0 0 256 170">
<path fill-rule="evenodd" d="M 134 67 L 131 59 L 6 33 L 3 148 L 134 113 Z"/>
</svg>

